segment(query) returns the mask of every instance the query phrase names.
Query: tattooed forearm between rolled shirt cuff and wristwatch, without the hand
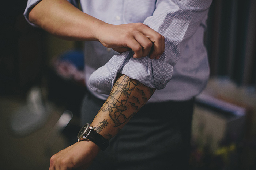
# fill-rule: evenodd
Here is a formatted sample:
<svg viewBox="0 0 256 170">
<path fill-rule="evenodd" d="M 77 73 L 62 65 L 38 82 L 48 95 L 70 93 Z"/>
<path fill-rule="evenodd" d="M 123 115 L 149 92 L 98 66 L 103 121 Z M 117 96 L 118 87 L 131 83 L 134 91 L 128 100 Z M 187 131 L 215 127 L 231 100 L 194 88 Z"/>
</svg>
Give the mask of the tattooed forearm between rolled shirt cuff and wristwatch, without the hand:
<svg viewBox="0 0 256 170">
<path fill-rule="evenodd" d="M 155 89 L 120 75 L 91 126 L 106 139 L 112 138 L 146 104 Z"/>
</svg>

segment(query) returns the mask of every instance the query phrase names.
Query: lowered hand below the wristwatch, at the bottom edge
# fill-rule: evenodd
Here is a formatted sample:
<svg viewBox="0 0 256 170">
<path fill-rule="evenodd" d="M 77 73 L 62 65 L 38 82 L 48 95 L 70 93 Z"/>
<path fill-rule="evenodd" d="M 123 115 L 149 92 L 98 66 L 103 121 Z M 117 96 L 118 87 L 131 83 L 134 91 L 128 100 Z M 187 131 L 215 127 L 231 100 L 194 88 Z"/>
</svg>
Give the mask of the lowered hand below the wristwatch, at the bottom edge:
<svg viewBox="0 0 256 170">
<path fill-rule="evenodd" d="M 87 169 L 99 151 L 91 141 L 76 142 L 51 157 L 49 170 Z"/>
</svg>

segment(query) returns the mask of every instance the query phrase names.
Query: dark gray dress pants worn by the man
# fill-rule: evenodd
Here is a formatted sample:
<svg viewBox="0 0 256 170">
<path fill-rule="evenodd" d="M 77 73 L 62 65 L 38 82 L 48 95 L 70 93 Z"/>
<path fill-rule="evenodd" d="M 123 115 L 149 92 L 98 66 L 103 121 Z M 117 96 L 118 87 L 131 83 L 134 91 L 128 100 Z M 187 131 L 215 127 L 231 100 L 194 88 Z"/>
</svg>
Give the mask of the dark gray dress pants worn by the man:
<svg viewBox="0 0 256 170">
<path fill-rule="evenodd" d="M 89 92 L 82 125 L 91 123 L 105 101 Z M 194 100 L 146 104 L 100 151 L 91 170 L 188 169 Z"/>
</svg>

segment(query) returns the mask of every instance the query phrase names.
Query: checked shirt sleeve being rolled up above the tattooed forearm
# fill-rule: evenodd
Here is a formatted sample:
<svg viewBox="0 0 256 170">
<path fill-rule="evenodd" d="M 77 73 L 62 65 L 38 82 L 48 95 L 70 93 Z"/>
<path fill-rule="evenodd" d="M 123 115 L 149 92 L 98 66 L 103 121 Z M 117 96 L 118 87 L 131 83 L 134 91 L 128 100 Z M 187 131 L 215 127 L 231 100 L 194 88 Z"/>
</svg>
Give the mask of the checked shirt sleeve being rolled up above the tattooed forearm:
<svg viewBox="0 0 256 170">
<path fill-rule="evenodd" d="M 162 89 L 172 78 L 173 67 L 186 42 L 208 14 L 212 0 L 158 0 L 155 11 L 144 24 L 165 37 L 165 50 L 160 59 L 133 58 L 128 51 L 114 55 L 89 78 L 91 90 L 109 94 L 117 74 L 127 75 L 140 83 Z"/>
</svg>

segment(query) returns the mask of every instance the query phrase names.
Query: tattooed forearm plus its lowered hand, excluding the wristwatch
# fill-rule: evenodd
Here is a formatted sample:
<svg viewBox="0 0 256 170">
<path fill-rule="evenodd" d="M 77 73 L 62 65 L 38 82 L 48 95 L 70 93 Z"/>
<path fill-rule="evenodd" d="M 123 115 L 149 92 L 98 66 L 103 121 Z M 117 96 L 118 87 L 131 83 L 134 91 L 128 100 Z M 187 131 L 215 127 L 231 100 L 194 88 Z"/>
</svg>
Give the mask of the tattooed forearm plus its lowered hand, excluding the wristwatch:
<svg viewBox="0 0 256 170">
<path fill-rule="evenodd" d="M 155 89 L 128 76 L 119 75 L 91 126 L 106 139 L 112 138 L 148 101 Z M 50 170 L 86 169 L 100 149 L 91 141 L 80 141 L 53 155 Z"/>
</svg>

